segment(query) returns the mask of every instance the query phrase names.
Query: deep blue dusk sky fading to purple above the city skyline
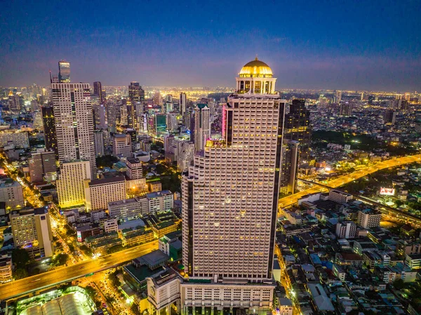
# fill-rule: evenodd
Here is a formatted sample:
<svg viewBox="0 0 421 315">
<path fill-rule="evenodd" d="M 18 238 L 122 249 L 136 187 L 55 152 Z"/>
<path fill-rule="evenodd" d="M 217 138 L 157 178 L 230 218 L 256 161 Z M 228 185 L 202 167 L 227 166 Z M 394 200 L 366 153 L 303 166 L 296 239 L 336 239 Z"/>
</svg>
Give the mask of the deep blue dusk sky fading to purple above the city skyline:
<svg viewBox="0 0 421 315">
<path fill-rule="evenodd" d="M 116 4 L 118 3 L 119 4 Z M 0 86 L 234 86 L 257 53 L 279 88 L 421 90 L 421 1 L 2 1 Z"/>
</svg>

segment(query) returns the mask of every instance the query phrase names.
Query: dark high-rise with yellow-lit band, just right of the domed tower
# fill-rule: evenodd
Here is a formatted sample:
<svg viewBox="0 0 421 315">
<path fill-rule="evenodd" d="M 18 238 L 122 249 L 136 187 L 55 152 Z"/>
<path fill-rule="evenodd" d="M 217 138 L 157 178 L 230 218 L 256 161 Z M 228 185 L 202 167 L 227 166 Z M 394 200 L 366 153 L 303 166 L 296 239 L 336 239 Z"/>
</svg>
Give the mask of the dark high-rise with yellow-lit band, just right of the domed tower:
<svg viewBox="0 0 421 315">
<path fill-rule="evenodd" d="M 310 111 L 305 107 L 305 100 L 293 100 L 289 113 L 285 115 L 283 135 L 286 139 L 300 142 L 300 160 L 308 159 L 312 130 Z"/>
</svg>

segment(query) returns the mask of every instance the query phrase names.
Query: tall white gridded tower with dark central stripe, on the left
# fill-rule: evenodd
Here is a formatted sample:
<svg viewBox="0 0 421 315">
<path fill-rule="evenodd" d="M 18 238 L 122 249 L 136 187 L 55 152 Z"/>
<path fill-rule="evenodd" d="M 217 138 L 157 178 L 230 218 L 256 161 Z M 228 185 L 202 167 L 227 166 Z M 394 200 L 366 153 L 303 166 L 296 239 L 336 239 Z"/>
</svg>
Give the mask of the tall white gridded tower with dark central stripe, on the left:
<svg viewBox="0 0 421 315">
<path fill-rule="evenodd" d="M 87 160 L 96 177 L 93 112 L 88 83 L 51 83 L 60 162 Z"/>
</svg>

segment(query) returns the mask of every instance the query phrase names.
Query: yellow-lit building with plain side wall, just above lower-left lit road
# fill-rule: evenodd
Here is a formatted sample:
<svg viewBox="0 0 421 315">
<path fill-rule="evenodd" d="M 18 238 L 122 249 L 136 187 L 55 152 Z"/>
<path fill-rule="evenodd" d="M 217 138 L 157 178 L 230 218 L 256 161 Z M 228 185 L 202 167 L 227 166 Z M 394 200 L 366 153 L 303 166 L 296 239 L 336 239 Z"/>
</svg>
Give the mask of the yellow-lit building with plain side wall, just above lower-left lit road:
<svg viewBox="0 0 421 315">
<path fill-rule="evenodd" d="M 16 247 L 27 249 L 33 258 L 53 255 L 53 233 L 48 209 L 14 210 L 9 217 Z"/>
</svg>

